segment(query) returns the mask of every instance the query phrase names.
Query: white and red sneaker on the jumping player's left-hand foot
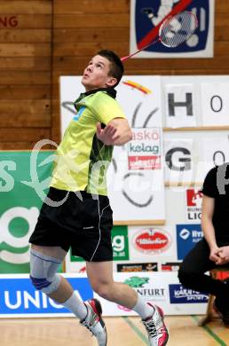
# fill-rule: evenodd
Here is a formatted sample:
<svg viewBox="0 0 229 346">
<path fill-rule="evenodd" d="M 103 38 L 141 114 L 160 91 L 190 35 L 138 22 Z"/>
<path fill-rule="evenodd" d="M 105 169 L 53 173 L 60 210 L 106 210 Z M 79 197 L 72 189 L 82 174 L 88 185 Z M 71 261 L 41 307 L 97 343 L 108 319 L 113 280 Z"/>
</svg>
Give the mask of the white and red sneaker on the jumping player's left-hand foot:
<svg viewBox="0 0 229 346">
<path fill-rule="evenodd" d="M 99 346 L 107 345 L 107 329 L 102 315 L 102 307 L 98 299 L 89 299 L 83 302 L 87 308 L 87 316 L 80 321 L 83 326 L 86 326 L 93 335 L 97 338 Z"/>
</svg>

